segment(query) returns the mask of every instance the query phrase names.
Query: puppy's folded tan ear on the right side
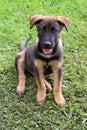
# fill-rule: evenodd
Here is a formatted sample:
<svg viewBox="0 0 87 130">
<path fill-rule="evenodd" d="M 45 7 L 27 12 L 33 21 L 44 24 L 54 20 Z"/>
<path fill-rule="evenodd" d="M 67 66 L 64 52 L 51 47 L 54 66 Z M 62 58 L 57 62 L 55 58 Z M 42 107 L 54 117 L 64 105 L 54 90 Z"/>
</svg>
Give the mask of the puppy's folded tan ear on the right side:
<svg viewBox="0 0 87 130">
<path fill-rule="evenodd" d="M 68 18 L 65 16 L 57 16 L 57 21 L 66 28 L 66 31 L 68 31 L 68 25 L 70 23 Z"/>
</svg>

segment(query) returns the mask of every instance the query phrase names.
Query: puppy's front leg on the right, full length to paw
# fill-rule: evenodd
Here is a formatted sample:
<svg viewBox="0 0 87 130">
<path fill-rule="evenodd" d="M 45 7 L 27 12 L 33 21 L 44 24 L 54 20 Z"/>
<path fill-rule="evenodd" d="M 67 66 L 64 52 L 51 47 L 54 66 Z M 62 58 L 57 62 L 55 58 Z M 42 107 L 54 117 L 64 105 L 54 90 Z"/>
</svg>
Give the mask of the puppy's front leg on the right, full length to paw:
<svg viewBox="0 0 87 130">
<path fill-rule="evenodd" d="M 55 102 L 60 105 L 63 106 L 66 104 L 66 101 L 63 97 L 62 94 L 62 66 L 61 66 L 61 62 L 54 62 L 52 64 L 52 69 L 53 69 L 53 75 L 54 75 L 54 88 L 53 88 L 53 93 L 54 93 L 54 99 Z"/>
</svg>

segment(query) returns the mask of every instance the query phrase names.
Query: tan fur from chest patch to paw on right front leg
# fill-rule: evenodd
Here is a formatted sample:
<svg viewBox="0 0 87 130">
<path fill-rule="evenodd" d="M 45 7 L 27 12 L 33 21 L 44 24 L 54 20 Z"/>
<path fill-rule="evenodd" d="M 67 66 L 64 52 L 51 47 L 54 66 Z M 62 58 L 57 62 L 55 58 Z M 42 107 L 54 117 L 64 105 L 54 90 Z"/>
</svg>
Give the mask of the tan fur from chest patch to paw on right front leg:
<svg viewBox="0 0 87 130">
<path fill-rule="evenodd" d="M 52 61 L 50 62 L 50 65 L 52 66 L 52 70 L 53 70 L 53 76 L 54 76 L 54 88 L 53 88 L 53 94 L 54 94 L 54 99 L 55 102 L 58 105 L 65 105 L 66 101 L 63 97 L 62 94 L 62 90 L 61 90 L 61 85 L 62 85 L 62 79 L 60 82 L 58 82 L 58 69 L 61 68 L 62 66 L 62 62 L 58 62 L 58 61 Z"/>
</svg>

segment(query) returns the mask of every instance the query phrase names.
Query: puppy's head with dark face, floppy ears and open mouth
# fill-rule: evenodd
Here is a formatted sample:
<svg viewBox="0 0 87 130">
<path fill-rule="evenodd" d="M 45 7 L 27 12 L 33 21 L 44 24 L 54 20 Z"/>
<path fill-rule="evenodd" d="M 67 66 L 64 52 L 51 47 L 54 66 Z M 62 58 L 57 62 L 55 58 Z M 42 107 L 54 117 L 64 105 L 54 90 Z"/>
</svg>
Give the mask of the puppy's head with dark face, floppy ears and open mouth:
<svg viewBox="0 0 87 130">
<path fill-rule="evenodd" d="M 30 19 L 30 28 L 36 25 L 39 48 L 45 55 L 51 55 L 58 44 L 60 32 L 63 27 L 68 30 L 69 20 L 64 16 L 35 15 Z"/>
</svg>

